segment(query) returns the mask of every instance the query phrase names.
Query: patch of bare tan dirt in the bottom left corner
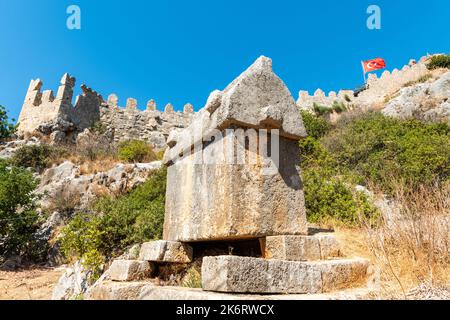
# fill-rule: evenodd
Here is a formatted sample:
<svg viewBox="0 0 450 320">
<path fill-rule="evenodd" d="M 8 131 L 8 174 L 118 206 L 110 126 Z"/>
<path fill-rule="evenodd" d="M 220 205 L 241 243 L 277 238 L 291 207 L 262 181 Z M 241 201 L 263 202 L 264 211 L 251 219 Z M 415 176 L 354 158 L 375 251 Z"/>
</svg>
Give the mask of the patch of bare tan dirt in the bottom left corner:
<svg viewBox="0 0 450 320">
<path fill-rule="evenodd" d="M 0 271 L 0 300 L 49 300 L 63 269 Z"/>
</svg>

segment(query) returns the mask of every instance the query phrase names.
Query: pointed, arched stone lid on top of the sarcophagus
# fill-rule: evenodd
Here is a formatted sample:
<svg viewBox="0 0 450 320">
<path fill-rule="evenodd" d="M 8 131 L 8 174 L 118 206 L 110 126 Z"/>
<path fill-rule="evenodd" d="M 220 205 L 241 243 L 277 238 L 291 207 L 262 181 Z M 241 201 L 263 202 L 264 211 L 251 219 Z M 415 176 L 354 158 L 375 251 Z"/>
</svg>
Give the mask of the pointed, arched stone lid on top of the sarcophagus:
<svg viewBox="0 0 450 320">
<path fill-rule="evenodd" d="M 300 111 L 284 82 L 273 72 L 272 60 L 261 56 L 223 91 L 213 91 L 206 105 L 195 115 L 191 125 L 180 134 L 173 151 L 166 152 L 170 161 L 203 136 L 231 125 L 255 129 L 278 129 L 285 138 L 299 140 L 306 136 Z"/>
</svg>

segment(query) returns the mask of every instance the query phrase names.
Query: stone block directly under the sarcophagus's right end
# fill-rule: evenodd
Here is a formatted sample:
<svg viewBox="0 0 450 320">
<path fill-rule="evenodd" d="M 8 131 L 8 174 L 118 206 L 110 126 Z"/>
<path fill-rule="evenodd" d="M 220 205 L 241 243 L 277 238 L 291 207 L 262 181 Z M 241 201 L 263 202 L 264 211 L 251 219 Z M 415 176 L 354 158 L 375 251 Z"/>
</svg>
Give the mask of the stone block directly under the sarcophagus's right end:
<svg viewBox="0 0 450 320">
<path fill-rule="evenodd" d="M 333 234 L 273 236 L 262 241 L 266 259 L 311 261 L 340 256 L 340 246 Z"/>
</svg>

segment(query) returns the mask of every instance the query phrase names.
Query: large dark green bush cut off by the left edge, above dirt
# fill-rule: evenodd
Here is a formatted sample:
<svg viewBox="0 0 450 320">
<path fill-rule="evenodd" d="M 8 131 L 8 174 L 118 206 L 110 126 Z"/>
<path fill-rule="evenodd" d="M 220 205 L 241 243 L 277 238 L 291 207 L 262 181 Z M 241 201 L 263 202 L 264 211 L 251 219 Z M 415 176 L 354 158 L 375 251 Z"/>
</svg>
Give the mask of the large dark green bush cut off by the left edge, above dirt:
<svg viewBox="0 0 450 320">
<path fill-rule="evenodd" d="M 35 261 L 45 252 L 34 236 L 42 223 L 36 211 L 37 185 L 27 170 L 0 162 L 0 257 Z"/>
</svg>

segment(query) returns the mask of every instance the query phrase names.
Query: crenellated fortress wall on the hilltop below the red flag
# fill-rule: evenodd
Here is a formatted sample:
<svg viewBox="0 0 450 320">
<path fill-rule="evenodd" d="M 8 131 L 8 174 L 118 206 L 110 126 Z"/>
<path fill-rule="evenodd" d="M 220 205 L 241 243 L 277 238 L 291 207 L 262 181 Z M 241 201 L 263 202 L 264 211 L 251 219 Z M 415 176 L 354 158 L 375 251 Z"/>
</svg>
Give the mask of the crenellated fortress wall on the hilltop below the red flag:
<svg viewBox="0 0 450 320">
<path fill-rule="evenodd" d="M 401 70 L 385 71 L 379 78 L 376 74 L 369 74 L 368 89 L 361 92 L 357 97 L 351 90 L 341 90 L 338 94 L 332 91 L 328 95 L 325 95 L 322 89 L 317 89 L 314 95 L 310 95 L 308 91 L 300 91 L 297 105 L 299 108 L 311 110 L 314 103 L 331 106 L 336 101 L 352 104 L 356 107 L 371 107 L 383 103 L 386 97 L 395 94 L 406 83 L 416 81 L 427 75 L 429 73 L 426 67 L 428 59 L 428 56 L 422 57 L 418 63 L 415 60 L 410 60 L 409 64 Z M 351 100 L 351 102 L 349 103 L 348 100 Z"/>
</svg>

